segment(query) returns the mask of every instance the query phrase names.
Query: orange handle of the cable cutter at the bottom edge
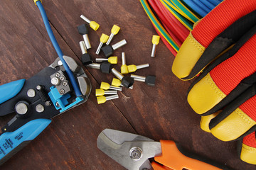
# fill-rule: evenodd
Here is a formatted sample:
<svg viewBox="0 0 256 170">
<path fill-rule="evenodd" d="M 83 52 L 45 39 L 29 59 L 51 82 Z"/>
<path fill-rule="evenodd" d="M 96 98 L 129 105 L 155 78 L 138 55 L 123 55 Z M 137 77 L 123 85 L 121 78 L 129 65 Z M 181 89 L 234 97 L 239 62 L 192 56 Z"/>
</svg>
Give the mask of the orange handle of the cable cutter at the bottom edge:
<svg viewBox="0 0 256 170">
<path fill-rule="evenodd" d="M 217 165 L 213 166 L 213 163 L 209 164 L 198 159 L 196 155 L 187 157 L 183 152 L 183 149 L 177 147 L 176 143 L 171 140 L 160 140 L 162 154 L 159 157 L 154 157 L 156 162 L 163 164 L 164 166 L 158 166 L 153 163 L 152 166 L 155 170 L 174 169 L 174 170 L 220 170 L 227 169 L 226 167 L 218 168 Z M 179 149 L 178 149 L 179 148 Z M 166 167 L 165 167 L 166 166 Z"/>
</svg>

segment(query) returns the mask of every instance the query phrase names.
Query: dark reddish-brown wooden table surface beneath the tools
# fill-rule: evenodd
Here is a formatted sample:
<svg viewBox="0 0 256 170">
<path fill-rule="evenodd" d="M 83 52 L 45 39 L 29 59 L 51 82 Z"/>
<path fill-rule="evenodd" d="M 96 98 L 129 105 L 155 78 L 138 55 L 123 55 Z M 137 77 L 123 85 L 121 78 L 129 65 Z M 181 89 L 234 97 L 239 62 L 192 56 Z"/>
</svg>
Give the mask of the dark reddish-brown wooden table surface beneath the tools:
<svg viewBox="0 0 256 170">
<path fill-rule="evenodd" d="M 88 101 L 53 118 L 41 135 L 0 169 L 123 169 L 97 149 L 97 135 L 105 128 L 156 141 L 174 140 L 188 151 L 232 169 L 255 169 L 238 158 L 236 142 L 221 142 L 201 130 L 201 118 L 186 101 L 192 81 L 180 81 L 171 72 L 174 56 L 163 42 L 157 46 L 156 57 L 150 57 L 151 37 L 156 32 L 139 1 L 45 0 L 43 6 L 63 53 L 78 62 L 82 36 L 76 26 L 84 23 L 81 14 L 100 23 L 99 30 L 90 29 L 93 58 L 99 57 L 95 51 L 100 35 L 110 34 L 113 24 L 120 26 L 112 44 L 125 38 L 127 45 L 114 52 L 119 57 L 116 68 L 121 65 L 121 52 L 126 52 L 127 64 L 150 64 L 136 74 L 156 75 L 156 86 L 136 82 L 134 89 L 124 89 L 118 99 L 98 105 L 95 89 L 101 81 L 111 83 L 113 76 L 84 67 L 92 83 Z M 0 84 L 28 79 L 58 57 L 33 1 L 2 0 L 0 17 Z M 1 127 L 13 116 L 1 117 Z"/>
</svg>

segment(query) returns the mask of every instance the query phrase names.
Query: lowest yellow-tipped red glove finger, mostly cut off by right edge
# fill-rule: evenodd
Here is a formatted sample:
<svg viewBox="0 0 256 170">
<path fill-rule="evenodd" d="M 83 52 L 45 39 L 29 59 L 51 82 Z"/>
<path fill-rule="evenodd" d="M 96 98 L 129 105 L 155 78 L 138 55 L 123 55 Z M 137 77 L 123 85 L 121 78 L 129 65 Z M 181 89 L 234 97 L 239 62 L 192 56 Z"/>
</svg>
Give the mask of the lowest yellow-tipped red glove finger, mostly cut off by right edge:
<svg viewBox="0 0 256 170">
<path fill-rule="evenodd" d="M 249 164 L 256 164 L 256 138 L 255 132 L 247 135 L 240 142 L 238 154 L 242 161 Z"/>
</svg>

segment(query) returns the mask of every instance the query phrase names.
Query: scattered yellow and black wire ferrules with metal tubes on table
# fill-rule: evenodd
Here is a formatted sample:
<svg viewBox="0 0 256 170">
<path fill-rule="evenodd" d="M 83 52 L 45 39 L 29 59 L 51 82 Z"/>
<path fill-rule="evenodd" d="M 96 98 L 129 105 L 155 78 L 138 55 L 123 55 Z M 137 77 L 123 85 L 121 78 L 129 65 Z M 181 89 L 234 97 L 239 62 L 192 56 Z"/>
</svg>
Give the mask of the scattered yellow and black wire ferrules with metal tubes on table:
<svg viewBox="0 0 256 170">
<path fill-rule="evenodd" d="M 97 24 L 95 21 L 90 21 L 85 16 L 80 16 L 84 21 L 89 23 L 90 28 L 93 30 L 97 30 L 100 25 Z M 92 61 L 92 57 L 88 54 L 87 50 L 91 48 L 90 40 L 88 36 L 88 26 L 87 24 L 82 24 L 78 26 L 78 33 L 82 35 L 83 40 L 79 42 L 80 49 L 82 51 L 82 64 L 84 64 L 86 67 L 92 68 L 92 69 L 99 69 L 100 72 L 109 74 L 110 72 L 114 74 L 116 78 L 112 79 L 112 84 L 108 84 L 106 82 L 102 82 L 100 84 L 100 89 L 95 90 L 95 96 L 97 97 L 97 103 L 105 103 L 106 101 L 112 100 L 114 98 L 119 98 L 117 91 L 122 91 L 122 87 L 126 87 L 129 89 L 133 89 L 134 80 L 135 81 L 143 81 L 149 86 L 154 86 L 156 77 L 155 76 L 147 76 L 142 77 L 138 75 L 132 74 L 131 76 L 128 76 L 127 74 L 131 72 L 137 71 L 137 69 L 142 69 L 149 67 L 149 64 L 126 64 L 125 60 L 125 53 L 122 52 L 122 66 L 121 71 L 118 72 L 117 69 L 112 68 L 112 64 L 117 64 L 117 56 L 112 56 L 114 53 L 114 50 L 116 50 L 119 47 L 122 47 L 123 45 L 127 44 L 126 40 L 121 40 L 117 42 L 114 45 L 110 45 L 110 42 L 114 38 L 114 35 L 117 35 L 120 28 L 117 25 L 114 25 L 111 29 L 110 36 L 102 33 L 100 37 L 100 44 L 97 47 L 97 51 L 95 52 L 96 55 L 100 55 L 100 50 L 102 50 L 102 53 L 105 55 L 105 57 L 95 58 L 95 62 Z M 154 44 L 154 53 L 155 53 L 155 45 L 158 44 L 159 38 L 154 37 L 154 40 L 152 40 Z M 105 46 L 103 46 L 106 44 Z M 102 47 L 103 46 L 103 47 Z M 153 52 L 152 52 L 153 53 Z M 96 63 L 100 62 L 100 63 Z"/>
</svg>

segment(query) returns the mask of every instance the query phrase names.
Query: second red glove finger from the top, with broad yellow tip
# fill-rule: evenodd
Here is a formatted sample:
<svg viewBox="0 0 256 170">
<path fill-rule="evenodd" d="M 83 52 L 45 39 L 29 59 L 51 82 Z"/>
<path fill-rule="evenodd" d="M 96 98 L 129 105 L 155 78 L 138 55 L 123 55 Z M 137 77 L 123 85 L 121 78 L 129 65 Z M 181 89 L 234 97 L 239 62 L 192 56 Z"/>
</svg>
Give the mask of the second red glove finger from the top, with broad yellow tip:
<svg viewBox="0 0 256 170">
<path fill-rule="evenodd" d="M 205 72 L 191 84 L 188 89 L 188 103 L 196 113 L 208 114 L 208 111 L 235 88 L 237 89 L 233 96 L 239 95 L 250 86 L 246 85 L 242 79 L 250 77 L 256 71 L 254 64 L 256 49 L 252 48 L 256 45 L 256 35 L 253 35 L 256 32 L 256 26 L 251 30 L 236 43 L 233 49 L 210 64 Z"/>
</svg>

